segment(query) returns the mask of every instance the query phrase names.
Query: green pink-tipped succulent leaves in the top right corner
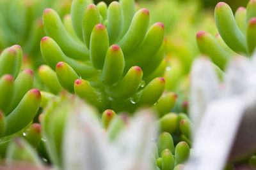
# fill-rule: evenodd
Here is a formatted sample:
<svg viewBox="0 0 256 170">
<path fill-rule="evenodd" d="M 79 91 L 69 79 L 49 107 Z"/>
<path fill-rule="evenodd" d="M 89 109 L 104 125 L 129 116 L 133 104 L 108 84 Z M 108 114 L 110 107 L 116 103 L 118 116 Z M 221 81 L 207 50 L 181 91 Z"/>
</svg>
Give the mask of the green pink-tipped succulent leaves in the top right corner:
<svg viewBox="0 0 256 170">
<path fill-rule="evenodd" d="M 212 62 L 224 70 L 234 55 L 252 56 L 255 50 L 256 1 L 247 8 L 238 8 L 235 15 L 226 3 L 216 5 L 214 16 L 220 34 L 214 38 L 205 31 L 196 35 L 200 52 L 211 57 Z"/>
</svg>

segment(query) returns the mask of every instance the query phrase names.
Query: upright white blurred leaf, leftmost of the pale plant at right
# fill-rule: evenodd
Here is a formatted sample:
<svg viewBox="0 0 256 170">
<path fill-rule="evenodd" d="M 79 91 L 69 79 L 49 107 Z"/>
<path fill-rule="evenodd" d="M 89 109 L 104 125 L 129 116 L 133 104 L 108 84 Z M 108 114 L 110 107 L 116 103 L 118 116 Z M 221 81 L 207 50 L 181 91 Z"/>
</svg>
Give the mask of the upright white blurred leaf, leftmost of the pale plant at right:
<svg viewBox="0 0 256 170">
<path fill-rule="evenodd" d="M 189 96 L 189 114 L 195 129 L 200 125 L 207 104 L 218 97 L 218 78 L 212 63 L 205 57 L 196 59 L 191 70 Z"/>
</svg>

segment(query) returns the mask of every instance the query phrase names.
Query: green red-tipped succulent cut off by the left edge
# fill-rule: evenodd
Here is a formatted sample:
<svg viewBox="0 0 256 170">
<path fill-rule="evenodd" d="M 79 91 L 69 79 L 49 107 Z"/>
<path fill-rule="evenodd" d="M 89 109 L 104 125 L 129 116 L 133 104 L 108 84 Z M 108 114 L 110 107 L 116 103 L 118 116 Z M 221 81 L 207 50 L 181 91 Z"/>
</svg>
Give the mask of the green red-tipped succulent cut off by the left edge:
<svg viewBox="0 0 256 170">
<path fill-rule="evenodd" d="M 41 103 L 40 91 L 32 89 L 33 72 L 30 69 L 20 72 L 21 62 L 22 49 L 19 45 L 4 49 L 0 55 L 1 155 L 12 135 L 33 121 Z"/>
</svg>

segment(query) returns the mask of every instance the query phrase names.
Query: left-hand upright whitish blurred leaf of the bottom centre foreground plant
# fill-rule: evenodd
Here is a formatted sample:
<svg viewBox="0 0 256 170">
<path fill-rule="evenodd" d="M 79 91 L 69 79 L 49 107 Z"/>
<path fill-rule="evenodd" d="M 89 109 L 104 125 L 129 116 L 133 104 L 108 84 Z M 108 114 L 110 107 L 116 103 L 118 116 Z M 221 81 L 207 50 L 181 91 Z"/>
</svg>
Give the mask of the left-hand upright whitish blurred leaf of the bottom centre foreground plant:
<svg viewBox="0 0 256 170">
<path fill-rule="evenodd" d="M 94 113 L 92 108 L 81 105 L 70 114 L 63 145 L 67 170 L 104 169 L 104 138 Z"/>
</svg>

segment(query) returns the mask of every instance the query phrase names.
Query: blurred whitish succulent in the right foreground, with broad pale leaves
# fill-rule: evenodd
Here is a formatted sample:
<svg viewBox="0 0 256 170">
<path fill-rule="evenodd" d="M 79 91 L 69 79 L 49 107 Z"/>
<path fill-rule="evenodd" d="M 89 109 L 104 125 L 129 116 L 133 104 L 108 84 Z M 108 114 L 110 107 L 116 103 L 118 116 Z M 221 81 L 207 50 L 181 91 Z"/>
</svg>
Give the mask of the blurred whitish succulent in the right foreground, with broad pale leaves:
<svg viewBox="0 0 256 170">
<path fill-rule="evenodd" d="M 213 169 L 221 169 L 225 166 L 225 160 L 230 160 L 235 165 L 241 164 L 241 160 L 248 161 L 248 157 L 255 153 L 255 57 L 250 60 L 245 57 L 232 59 L 223 74 L 221 84 L 214 64 L 206 58 L 195 61 L 191 73 L 190 117 L 195 125 L 191 129 L 196 134 L 194 145 L 196 153 L 191 162 L 193 165 L 196 164 L 198 169 L 203 168 L 203 165 L 212 167 L 212 162 L 220 162 L 218 167 L 214 166 Z M 215 120 L 210 116 L 214 113 L 223 115 L 223 120 Z M 234 119 L 229 120 L 228 117 Z M 209 122 L 212 122 L 212 125 L 209 125 Z M 209 129 L 206 130 L 207 125 Z M 222 128 L 222 125 L 227 127 Z M 211 146 L 209 138 L 200 136 L 204 134 L 203 131 L 211 131 L 207 136 L 216 137 L 214 134 L 219 134 L 223 139 L 216 138 L 216 142 L 211 141 L 215 145 Z M 204 146 L 200 145 L 200 142 L 201 144 L 203 142 Z M 205 154 L 202 150 L 201 152 L 198 150 L 200 147 L 207 146 L 211 147 Z M 215 153 L 220 150 L 222 152 L 214 154 L 211 152 L 214 150 L 216 150 Z M 204 160 L 211 158 L 212 161 L 207 164 L 202 161 L 203 159 L 198 160 L 198 155 L 204 157 Z M 188 164 L 188 167 L 192 164 Z M 193 169 L 193 167 L 190 168 Z"/>
</svg>

